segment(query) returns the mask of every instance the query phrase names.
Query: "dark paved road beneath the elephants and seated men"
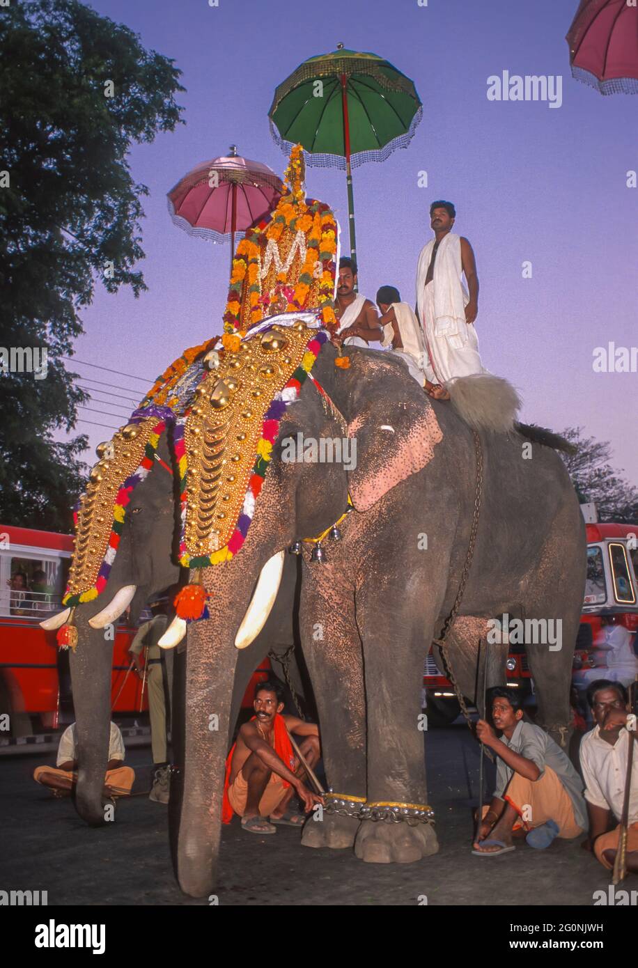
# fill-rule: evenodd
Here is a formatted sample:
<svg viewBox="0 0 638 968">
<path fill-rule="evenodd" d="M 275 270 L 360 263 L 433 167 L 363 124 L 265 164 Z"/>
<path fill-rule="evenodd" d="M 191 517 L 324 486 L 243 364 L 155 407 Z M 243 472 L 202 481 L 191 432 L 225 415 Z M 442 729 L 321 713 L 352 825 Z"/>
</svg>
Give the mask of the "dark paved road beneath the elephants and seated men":
<svg viewBox="0 0 638 968">
<path fill-rule="evenodd" d="M 367 864 L 349 850 L 301 847 L 299 833 L 290 828 L 259 838 L 242 832 L 235 821 L 223 833 L 219 903 L 416 905 L 425 894 L 430 906 L 590 906 L 592 892 L 607 888 L 606 872 L 579 841 L 555 841 L 544 852 L 519 843 L 501 858 L 472 857 L 478 751 L 467 728 L 431 730 L 427 761 L 441 845 L 435 857 L 396 866 Z M 207 903 L 185 897 L 173 879 L 166 807 L 146 797 L 123 800 L 116 823 L 90 830 L 72 802 L 53 800 L 33 782 L 39 762 L 23 756 L 0 763 L 1 890 L 46 890 L 49 904 Z M 150 750 L 131 750 L 127 763 L 137 771 L 134 791 L 148 787 Z M 636 880 L 627 886 L 638 888 Z"/>
</svg>

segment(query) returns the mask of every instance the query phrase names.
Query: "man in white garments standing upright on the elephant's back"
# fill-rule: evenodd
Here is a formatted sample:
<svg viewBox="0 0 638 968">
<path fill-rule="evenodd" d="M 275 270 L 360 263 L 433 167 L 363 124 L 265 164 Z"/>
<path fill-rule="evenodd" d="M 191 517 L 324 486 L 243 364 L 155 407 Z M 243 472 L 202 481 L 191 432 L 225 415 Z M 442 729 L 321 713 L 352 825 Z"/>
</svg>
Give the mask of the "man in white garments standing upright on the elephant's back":
<svg viewBox="0 0 638 968">
<path fill-rule="evenodd" d="M 430 226 L 435 237 L 421 250 L 416 267 L 416 309 L 425 334 L 426 377 L 434 384 L 428 392 L 438 399 L 449 399 L 445 384 L 451 380 L 485 373 L 473 326 L 478 313 L 476 262 L 468 239 L 452 232 L 455 218 L 451 201 L 433 201 Z"/>
</svg>

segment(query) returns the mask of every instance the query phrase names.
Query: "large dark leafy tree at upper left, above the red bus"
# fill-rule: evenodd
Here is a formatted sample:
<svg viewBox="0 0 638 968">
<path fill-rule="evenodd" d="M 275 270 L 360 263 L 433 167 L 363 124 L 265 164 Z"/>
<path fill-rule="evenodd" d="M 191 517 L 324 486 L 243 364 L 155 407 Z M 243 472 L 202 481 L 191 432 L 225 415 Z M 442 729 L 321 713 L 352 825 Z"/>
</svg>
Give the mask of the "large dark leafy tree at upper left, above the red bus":
<svg viewBox="0 0 638 968">
<path fill-rule="evenodd" d="M 109 292 L 145 289 L 135 265 L 147 189 L 127 153 L 179 122 L 181 72 L 77 0 L 3 8 L 0 58 L 0 344 L 48 353 L 46 378 L 0 374 L 0 518 L 69 529 L 86 438 L 54 435 L 76 427 L 86 394 L 61 357 L 98 279 Z"/>
</svg>

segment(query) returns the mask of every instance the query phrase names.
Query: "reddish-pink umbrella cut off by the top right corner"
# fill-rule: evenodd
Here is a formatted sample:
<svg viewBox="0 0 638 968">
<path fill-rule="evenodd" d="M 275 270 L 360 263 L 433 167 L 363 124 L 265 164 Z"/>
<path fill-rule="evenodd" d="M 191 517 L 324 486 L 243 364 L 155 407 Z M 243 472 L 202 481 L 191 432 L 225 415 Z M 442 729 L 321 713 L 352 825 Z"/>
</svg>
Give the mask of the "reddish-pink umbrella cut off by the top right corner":
<svg viewBox="0 0 638 968">
<path fill-rule="evenodd" d="M 638 8 L 581 0 L 566 37 L 571 73 L 601 94 L 638 94 Z"/>
</svg>

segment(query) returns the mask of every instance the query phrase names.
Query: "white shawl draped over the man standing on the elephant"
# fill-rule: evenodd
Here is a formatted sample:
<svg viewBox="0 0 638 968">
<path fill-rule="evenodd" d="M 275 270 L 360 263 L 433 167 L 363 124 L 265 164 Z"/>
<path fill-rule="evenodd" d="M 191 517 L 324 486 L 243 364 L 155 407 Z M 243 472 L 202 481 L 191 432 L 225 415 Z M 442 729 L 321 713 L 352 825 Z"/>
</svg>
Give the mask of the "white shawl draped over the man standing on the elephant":
<svg viewBox="0 0 638 968">
<path fill-rule="evenodd" d="M 416 266 L 416 308 L 421 325 L 425 329 L 425 279 L 428 274 L 435 239 L 421 249 Z M 461 274 L 461 236 L 448 232 L 441 239 L 434 264 L 435 336 L 460 336 L 464 344 L 468 339 L 465 307 L 470 295 L 463 284 Z"/>
</svg>

